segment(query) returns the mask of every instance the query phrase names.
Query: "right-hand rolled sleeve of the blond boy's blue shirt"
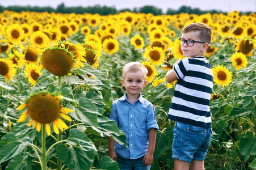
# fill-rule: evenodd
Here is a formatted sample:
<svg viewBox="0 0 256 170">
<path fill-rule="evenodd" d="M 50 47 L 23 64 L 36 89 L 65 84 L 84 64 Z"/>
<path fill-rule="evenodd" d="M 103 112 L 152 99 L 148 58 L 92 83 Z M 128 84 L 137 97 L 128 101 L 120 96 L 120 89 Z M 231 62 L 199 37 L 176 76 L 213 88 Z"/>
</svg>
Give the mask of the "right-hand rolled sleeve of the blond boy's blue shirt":
<svg viewBox="0 0 256 170">
<path fill-rule="evenodd" d="M 148 131 L 149 129 L 156 129 L 158 130 L 159 127 L 157 125 L 157 121 L 156 121 L 156 114 L 154 111 L 154 106 L 151 104 L 148 106 L 148 116 L 147 116 L 147 120 L 146 120 L 146 131 Z"/>
</svg>

